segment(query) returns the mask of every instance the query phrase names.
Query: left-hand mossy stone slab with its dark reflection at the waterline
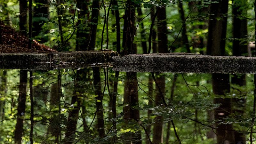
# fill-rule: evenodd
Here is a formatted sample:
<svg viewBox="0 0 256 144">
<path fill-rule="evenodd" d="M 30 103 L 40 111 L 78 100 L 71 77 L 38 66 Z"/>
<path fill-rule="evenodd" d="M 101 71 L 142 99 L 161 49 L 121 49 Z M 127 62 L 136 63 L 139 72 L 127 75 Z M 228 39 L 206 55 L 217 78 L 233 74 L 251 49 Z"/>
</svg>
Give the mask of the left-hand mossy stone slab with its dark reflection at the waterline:
<svg viewBox="0 0 256 144">
<path fill-rule="evenodd" d="M 116 55 L 118 53 L 114 51 L 0 53 L 0 68 L 36 70 L 79 68 L 93 63 L 109 63 Z"/>
</svg>

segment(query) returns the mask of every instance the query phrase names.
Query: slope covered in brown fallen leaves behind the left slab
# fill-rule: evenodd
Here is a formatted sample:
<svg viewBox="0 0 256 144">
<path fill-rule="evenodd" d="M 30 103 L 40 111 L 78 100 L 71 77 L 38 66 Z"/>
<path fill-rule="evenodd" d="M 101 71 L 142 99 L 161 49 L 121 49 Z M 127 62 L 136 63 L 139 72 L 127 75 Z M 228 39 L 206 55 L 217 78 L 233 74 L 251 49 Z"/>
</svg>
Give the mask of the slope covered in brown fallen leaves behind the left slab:
<svg viewBox="0 0 256 144">
<path fill-rule="evenodd" d="M 2 21 L 0 21 L 0 33 L 2 37 L 0 53 L 57 52 L 49 46 L 39 44 L 36 40 L 33 40 L 32 49 L 28 49 L 28 37 L 21 35 L 14 28 L 5 25 Z"/>
</svg>

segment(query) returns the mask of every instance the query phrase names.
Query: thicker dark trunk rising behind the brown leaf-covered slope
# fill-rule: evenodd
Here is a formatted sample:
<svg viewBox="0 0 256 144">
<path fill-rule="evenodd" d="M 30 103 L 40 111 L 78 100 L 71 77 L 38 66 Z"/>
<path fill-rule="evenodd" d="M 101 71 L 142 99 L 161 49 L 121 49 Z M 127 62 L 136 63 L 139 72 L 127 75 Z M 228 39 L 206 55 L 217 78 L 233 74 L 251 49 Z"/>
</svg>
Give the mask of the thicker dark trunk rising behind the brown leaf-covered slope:
<svg viewBox="0 0 256 144">
<path fill-rule="evenodd" d="M 27 36 L 27 0 L 20 0 L 20 32 L 24 36 Z"/>
</svg>

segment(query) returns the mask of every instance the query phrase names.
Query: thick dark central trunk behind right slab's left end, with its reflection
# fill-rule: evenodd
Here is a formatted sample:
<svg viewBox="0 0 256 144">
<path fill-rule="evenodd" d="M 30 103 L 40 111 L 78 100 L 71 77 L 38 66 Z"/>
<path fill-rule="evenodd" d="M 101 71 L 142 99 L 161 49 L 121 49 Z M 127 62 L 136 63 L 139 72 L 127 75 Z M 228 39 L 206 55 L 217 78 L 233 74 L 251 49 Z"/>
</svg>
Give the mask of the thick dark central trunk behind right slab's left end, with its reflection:
<svg viewBox="0 0 256 144">
<path fill-rule="evenodd" d="M 125 14 L 124 14 L 124 30 L 123 30 L 123 47 L 124 54 L 136 54 L 137 48 L 133 44 L 133 36 L 135 35 L 135 8 L 134 3 L 131 0 L 126 2 Z M 138 105 L 138 84 L 137 74 L 134 72 L 126 72 L 126 78 L 124 82 L 124 119 L 128 123 L 129 121 L 137 121 L 140 119 L 140 112 L 138 109 L 134 109 Z M 125 133 L 124 139 L 127 143 L 141 144 L 141 133 L 137 131 L 135 133 Z"/>
</svg>

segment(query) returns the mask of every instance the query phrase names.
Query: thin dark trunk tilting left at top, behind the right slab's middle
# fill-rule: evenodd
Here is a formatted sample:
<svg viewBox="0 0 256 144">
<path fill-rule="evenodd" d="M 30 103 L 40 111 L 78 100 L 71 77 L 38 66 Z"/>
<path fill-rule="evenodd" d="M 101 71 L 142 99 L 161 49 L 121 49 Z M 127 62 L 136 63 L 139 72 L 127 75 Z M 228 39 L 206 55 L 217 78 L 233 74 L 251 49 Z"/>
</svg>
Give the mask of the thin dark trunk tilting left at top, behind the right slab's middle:
<svg viewBox="0 0 256 144">
<path fill-rule="evenodd" d="M 185 14 L 184 14 L 184 10 L 183 10 L 183 5 L 182 5 L 181 2 L 179 2 L 178 5 L 179 5 L 180 18 L 181 18 L 182 22 L 185 22 Z M 183 24 L 181 34 L 182 34 L 182 42 L 183 42 L 183 44 L 186 45 L 187 52 L 190 52 L 189 44 L 188 44 L 188 35 L 187 35 L 187 25 L 186 25 L 186 23 Z"/>
</svg>

